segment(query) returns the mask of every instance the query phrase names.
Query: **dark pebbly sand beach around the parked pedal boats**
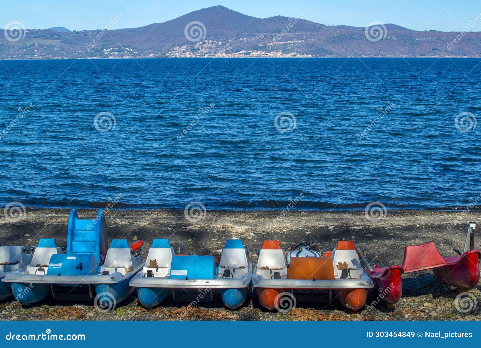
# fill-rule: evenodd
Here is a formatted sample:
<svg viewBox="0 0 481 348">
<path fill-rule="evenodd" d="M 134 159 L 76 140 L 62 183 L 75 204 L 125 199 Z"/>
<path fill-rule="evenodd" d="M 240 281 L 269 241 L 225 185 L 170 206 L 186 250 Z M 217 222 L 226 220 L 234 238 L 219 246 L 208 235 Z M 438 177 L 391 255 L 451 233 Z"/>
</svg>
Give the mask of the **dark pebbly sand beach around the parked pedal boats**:
<svg viewBox="0 0 481 348">
<path fill-rule="evenodd" d="M 65 249 L 69 209 L 27 209 L 24 219 L 11 223 L 0 219 L 1 245 L 36 246 L 39 238 L 55 238 Z M 388 211 L 380 221 L 367 220 L 364 211 L 207 211 L 204 219 L 190 222 L 183 210 L 110 210 L 106 213 L 107 237 L 110 241 L 125 238 L 129 243 L 142 239 L 145 258 L 154 238 L 168 238 L 183 254 L 219 252 L 229 238 L 241 238 L 255 251 L 264 240 L 278 239 L 289 248 L 310 241 L 321 250 L 332 250 L 338 240 L 354 240 L 371 262 L 380 266 L 400 264 L 405 245 L 434 241 L 443 256 L 456 256 L 462 250 L 469 221 L 481 223 L 481 211 L 471 210 L 396 210 Z M 94 209 L 78 210 L 80 219 L 96 216 Z M 476 230 L 477 231 L 477 230 Z M 475 240 L 477 248 L 481 239 Z M 439 281 L 430 271 L 404 275 L 403 297 L 395 309 L 380 304 L 353 312 L 327 296 L 300 296 L 297 308 L 288 313 L 262 309 L 255 292 L 238 310 L 222 307 L 219 298 L 185 310 L 188 303 L 167 299 L 162 307 L 144 309 L 134 293 L 113 311 L 102 313 L 92 303 L 61 302 L 51 299 L 34 306 L 21 306 L 12 300 L 0 302 L 0 320 L 480 320 L 480 309 L 461 313 L 454 306 L 457 290 Z M 472 293 L 481 303 L 480 285 Z M 305 297 L 305 298 L 304 298 Z M 308 301 L 310 300 L 310 301 Z M 368 296 L 367 304 L 376 298 Z"/>
</svg>

